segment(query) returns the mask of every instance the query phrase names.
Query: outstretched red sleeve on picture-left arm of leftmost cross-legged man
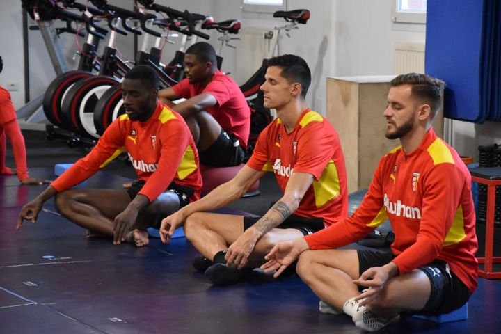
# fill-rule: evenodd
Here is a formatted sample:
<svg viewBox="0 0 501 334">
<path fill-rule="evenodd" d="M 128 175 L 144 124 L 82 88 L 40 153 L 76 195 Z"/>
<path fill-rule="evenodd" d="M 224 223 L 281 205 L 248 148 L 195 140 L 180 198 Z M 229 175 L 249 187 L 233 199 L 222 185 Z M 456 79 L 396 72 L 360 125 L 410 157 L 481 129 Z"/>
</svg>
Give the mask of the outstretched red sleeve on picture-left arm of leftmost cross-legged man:
<svg viewBox="0 0 501 334">
<path fill-rule="evenodd" d="M 79 159 L 79 161 L 52 182 L 51 186 L 61 192 L 87 180 L 97 170 L 106 166 L 109 161 L 115 159 L 121 152 L 125 151 L 123 141 L 124 138 L 120 134 L 120 122 L 117 118 L 106 129 L 89 154 Z"/>
</svg>

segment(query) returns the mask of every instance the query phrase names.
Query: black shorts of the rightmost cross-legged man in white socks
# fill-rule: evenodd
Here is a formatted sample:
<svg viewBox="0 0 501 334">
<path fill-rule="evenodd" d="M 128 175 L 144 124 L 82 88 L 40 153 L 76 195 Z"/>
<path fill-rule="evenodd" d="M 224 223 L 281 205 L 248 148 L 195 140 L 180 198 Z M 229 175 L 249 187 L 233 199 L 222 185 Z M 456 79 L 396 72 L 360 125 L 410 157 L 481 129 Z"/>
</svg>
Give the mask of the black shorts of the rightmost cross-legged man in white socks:
<svg viewBox="0 0 501 334">
<path fill-rule="evenodd" d="M 390 252 L 376 250 L 357 250 L 357 253 L 360 275 L 371 267 L 381 267 L 395 258 Z M 444 315 L 461 308 L 470 299 L 470 290 L 450 271 L 447 262 L 434 260 L 417 269 L 428 276 L 431 283 L 431 294 L 424 308 L 413 312 L 414 314 Z M 365 287 L 360 287 L 360 290 L 362 289 Z"/>
</svg>

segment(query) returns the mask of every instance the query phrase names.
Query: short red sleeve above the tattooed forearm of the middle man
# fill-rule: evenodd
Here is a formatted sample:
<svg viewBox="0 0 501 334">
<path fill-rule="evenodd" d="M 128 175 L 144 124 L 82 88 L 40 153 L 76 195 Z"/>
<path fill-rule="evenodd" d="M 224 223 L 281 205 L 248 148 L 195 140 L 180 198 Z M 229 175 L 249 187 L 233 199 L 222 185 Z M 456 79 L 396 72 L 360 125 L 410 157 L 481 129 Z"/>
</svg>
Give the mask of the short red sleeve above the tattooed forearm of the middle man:
<svg viewBox="0 0 501 334">
<path fill-rule="evenodd" d="M 319 180 L 328 161 L 333 158 L 333 136 L 322 122 L 311 122 L 297 138 L 297 158 L 294 172 L 310 173 Z M 337 148 L 340 148 L 337 145 Z"/>
</svg>

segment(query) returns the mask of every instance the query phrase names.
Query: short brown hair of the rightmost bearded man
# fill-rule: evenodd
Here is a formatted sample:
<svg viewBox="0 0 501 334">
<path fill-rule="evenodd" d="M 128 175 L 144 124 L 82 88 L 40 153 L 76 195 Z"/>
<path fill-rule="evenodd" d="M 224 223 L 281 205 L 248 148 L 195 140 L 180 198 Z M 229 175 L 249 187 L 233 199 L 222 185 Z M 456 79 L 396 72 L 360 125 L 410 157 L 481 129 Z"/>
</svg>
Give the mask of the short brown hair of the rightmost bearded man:
<svg viewBox="0 0 501 334">
<path fill-rule="evenodd" d="M 440 108 L 444 81 L 422 73 L 400 74 L 390 81 L 391 87 L 411 85 L 411 94 L 418 100 L 429 104 L 433 120 Z"/>
</svg>

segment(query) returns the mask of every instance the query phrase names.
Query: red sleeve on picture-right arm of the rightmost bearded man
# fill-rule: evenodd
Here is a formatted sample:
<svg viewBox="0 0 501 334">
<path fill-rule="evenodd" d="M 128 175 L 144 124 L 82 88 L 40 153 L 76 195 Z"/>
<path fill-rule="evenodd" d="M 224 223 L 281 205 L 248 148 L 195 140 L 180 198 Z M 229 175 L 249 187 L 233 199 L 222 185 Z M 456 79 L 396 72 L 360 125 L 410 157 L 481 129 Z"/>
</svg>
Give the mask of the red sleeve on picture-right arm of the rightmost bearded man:
<svg viewBox="0 0 501 334">
<path fill-rule="evenodd" d="M 458 174 L 459 169 L 454 164 L 445 163 L 435 166 L 424 175 L 422 218 L 416 241 L 393 260 L 400 274 L 438 257 L 461 197 L 463 177 Z"/>
</svg>

